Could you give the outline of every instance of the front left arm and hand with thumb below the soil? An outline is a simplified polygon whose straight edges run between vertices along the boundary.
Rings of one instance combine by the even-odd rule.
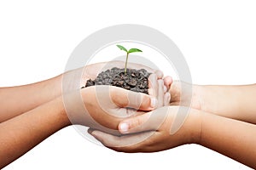
[[[109,86],[83,88],[66,95],[0,123],[0,169],[63,127],[80,124],[118,133],[119,121],[129,116],[126,106],[151,111],[156,105],[147,94]],[[71,110],[67,111],[67,105]]]

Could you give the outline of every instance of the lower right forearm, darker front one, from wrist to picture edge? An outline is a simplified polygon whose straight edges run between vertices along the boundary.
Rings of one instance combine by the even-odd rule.
[[[256,167],[256,126],[253,124],[202,113],[200,144]]]

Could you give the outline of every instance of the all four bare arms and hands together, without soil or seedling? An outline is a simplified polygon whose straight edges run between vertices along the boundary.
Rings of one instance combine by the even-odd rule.
[[[15,161],[61,128],[72,125],[72,122],[102,130],[90,133],[113,150],[152,152],[193,143],[218,151],[249,167],[256,167],[256,138],[252,135],[256,132],[255,84],[190,85],[195,89],[191,105],[194,109],[191,109],[186,105],[186,99],[183,98],[183,101],[181,98],[181,94],[187,95],[186,88],[182,92],[182,88],[179,88],[183,82],[172,83],[172,79],[166,77],[166,87],[171,86],[168,91],[172,94],[172,106],[162,107],[168,105],[170,100],[162,73],[130,63],[129,69],[145,69],[153,73],[148,77],[148,94],[109,85],[81,89],[87,80],[95,80],[102,71],[124,67],[121,61],[106,64],[87,65],[42,82],[0,88],[0,168]],[[66,91],[61,90],[62,77],[65,79],[62,82],[67,83]],[[135,84],[129,83],[131,86]],[[75,92],[79,95],[75,95]],[[67,97],[65,102],[63,96]],[[200,105],[196,105],[196,101]],[[67,111],[67,105],[72,105],[69,108],[71,112]],[[157,107],[160,108],[154,110]],[[170,134],[169,129],[177,116],[177,110],[181,114],[189,110],[189,116],[177,133]],[[159,120],[164,121],[156,126]],[[19,128],[14,130],[14,127]],[[119,129],[119,133],[116,129]],[[109,131],[118,136],[111,135]],[[148,133],[150,138],[140,140],[145,135],[148,137]],[[142,142],[125,145],[134,139]]]

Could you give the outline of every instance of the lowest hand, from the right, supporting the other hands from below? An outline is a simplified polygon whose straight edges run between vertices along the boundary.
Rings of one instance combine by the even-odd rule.
[[[171,127],[177,114],[189,111],[189,116],[177,133]],[[125,131],[121,128],[128,127]],[[123,136],[114,136],[97,130],[89,133],[112,150],[122,152],[154,152],[167,150],[181,144],[199,143],[201,134],[201,114],[186,107],[161,107],[140,116],[120,122],[119,131]]]

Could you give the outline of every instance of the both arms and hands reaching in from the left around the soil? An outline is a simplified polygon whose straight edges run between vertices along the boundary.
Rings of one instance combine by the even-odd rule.
[[[123,64],[119,61],[111,62],[108,67]],[[118,125],[125,117],[141,115],[143,111],[152,111],[159,105],[155,96],[161,96],[162,99],[158,98],[160,101],[170,100],[170,94],[164,90],[163,80],[159,79],[162,73],[143,65],[130,64],[131,68],[143,67],[154,73],[149,77],[150,95],[108,86],[79,88],[88,78],[95,78],[97,72],[101,71],[105,65],[105,63],[88,65],[44,82],[15,88],[1,88],[0,94],[3,94],[6,99],[0,100],[3,105],[0,110],[0,168],[15,161],[61,128],[79,124],[120,134],[117,130]],[[79,86],[73,83],[68,84],[68,93],[61,94],[61,78],[66,77],[66,81],[72,82],[73,77],[80,73],[82,73],[81,80],[79,77],[81,84]],[[37,94],[38,91],[42,96]],[[99,94],[101,98],[98,98]],[[55,97],[57,95],[59,97]],[[11,99],[13,96],[15,101]],[[15,104],[18,109],[14,107]],[[73,109],[71,112],[67,112],[67,105],[72,106],[69,107]],[[130,111],[126,107],[137,110]]]

